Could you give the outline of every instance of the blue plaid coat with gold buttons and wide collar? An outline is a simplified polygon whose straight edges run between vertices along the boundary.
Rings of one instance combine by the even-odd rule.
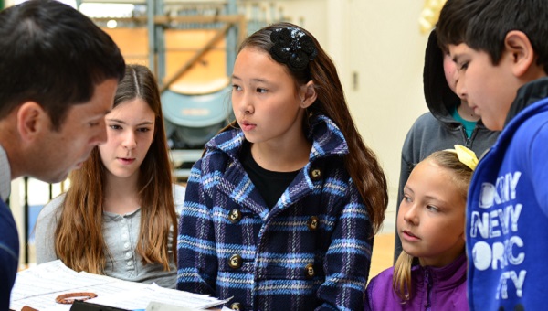
[[[372,224],[338,127],[317,117],[310,138],[309,163],[271,210],[238,160],[242,131],[207,143],[186,187],[178,289],[239,310],[363,310]]]

